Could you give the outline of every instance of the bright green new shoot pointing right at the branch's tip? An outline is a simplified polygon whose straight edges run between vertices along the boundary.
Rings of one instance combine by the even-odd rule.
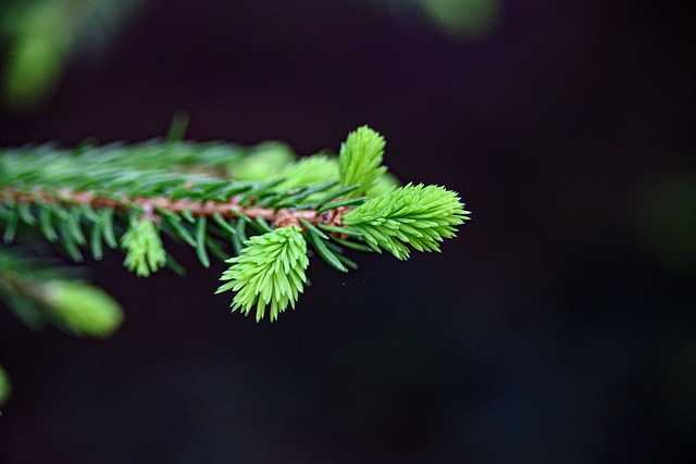
[[[359,231],[375,251],[409,258],[410,244],[419,251],[439,251],[439,242],[455,237],[455,226],[469,217],[457,192],[438,186],[411,184],[365,201],[344,214],[345,226]]]

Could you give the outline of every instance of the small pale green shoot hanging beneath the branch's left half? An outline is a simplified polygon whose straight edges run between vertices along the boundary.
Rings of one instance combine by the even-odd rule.
[[[166,264],[166,252],[157,227],[149,218],[135,220],[121,239],[126,251],[123,264],[140,277],[148,277]]]

